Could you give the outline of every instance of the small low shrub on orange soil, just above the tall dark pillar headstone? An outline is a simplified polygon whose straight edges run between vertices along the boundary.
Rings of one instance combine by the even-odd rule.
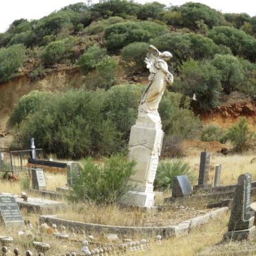
[[[209,125],[204,127],[201,134],[202,141],[219,141],[223,142],[224,130],[218,125]]]

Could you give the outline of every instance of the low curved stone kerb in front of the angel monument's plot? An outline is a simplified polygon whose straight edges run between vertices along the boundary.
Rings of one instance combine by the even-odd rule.
[[[63,220],[56,215],[41,215],[39,217],[39,222],[47,224],[56,224],[57,226],[63,225],[66,228],[76,228],[83,229],[87,231],[96,231],[104,233],[118,233],[118,234],[129,234],[129,233],[143,233],[147,235],[161,235],[164,238],[183,235],[189,232],[191,228],[200,226],[209,220],[218,217],[228,211],[228,207],[222,207],[206,213],[202,216],[193,217],[190,220],[181,222],[176,226],[156,226],[156,227],[136,227],[136,226],[110,226],[102,224],[92,224],[92,223],[83,223],[75,222],[72,220]]]

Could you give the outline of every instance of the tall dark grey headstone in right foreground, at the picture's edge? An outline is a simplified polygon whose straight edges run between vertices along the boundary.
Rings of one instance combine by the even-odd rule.
[[[224,239],[243,240],[255,233],[254,212],[250,209],[251,178],[249,173],[239,175],[235,197]]]

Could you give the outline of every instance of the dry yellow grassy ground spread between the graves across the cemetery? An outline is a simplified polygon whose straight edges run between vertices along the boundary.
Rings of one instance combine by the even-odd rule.
[[[222,164],[222,175],[220,179],[221,185],[236,184],[238,176],[246,172],[252,175],[252,180],[256,180],[256,161],[253,160],[254,158],[255,155],[221,156],[212,154],[209,184],[213,184],[214,167],[215,164],[219,163]],[[200,158],[198,156],[189,156],[182,160],[189,163],[191,166],[194,177],[192,183],[196,184]],[[65,186],[67,176],[64,174],[45,172],[45,182],[47,185],[45,190],[56,191],[56,188]],[[22,177],[17,182],[0,180],[1,192],[20,195],[22,191],[25,191],[23,186],[24,178]],[[167,198],[170,195],[171,191],[166,191],[163,195],[158,193],[156,195],[155,204],[163,204],[163,198]],[[254,198],[252,198],[251,202],[253,202],[253,199]],[[184,220],[189,220],[193,217],[204,215],[209,211],[212,211],[212,209],[206,209],[207,200],[202,199],[185,200],[182,203],[175,202],[174,204],[171,204],[168,211],[162,212],[142,211],[138,208],[127,210],[127,208],[122,208],[118,205],[97,206],[96,204],[76,204],[71,203],[69,200],[65,200],[65,198],[61,200],[64,200],[69,204],[68,209],[54,211],[51,215],[54,214],[61,219],[73,220],[76,222],[116,226],[168,226],[178,224]],[[74,232],[70,230],[67,231],[67,234],[70,235],[69,240],[57,239],[53,235],[55,232],[54,228],[49,226],[47,231],[45,231],[46,234],[44,231],[36,228],[36,226],[39,225],[39,217],[41,214],[28,213],[25,209],[21,209],[21,213],[24,220],[30,220],[33,226],[33,228],[25,228],[25,230],[27,230],[27,237],[19,235],[17,229],[6,229],[3,226],[0,228],[0,235],[8,235],[14,238],[12,248],[19,248],[21,255],[23,255],[25,250],[28,250],[28,248],[33,250],[33,240],[45,242],[51,245],[47,255],[60,255],[68,250],[81,250],[82,241],[87,239],[86,235],[81,233],[74,234]],[[214,246],[222,240],[224,233],[227,231],[229,216],[230,211],[219,217],[215,217],[206,224],[192,228],[187,234],[179,237],[163,239],[161,243],[155,241],[155,236],[151,236],[147,233],[136,233],[131,236],[127,235],[127,238],[131,238],[133,240],[140,241],[142,238],[146,238],[149,241],[147,250],[131,252],[131,255],[197,255],[202,250]],[[59,229],[60,226],[57,226],[57,228]],[[104,237],[100,232],[92,232],[92,235],[94,235],[94,237],[96,237],[96,241],[101,244],[109,243],[109,241],[106,240],[106,237]],[[245,248],[248,246],[249,243],[252,242],[239,242],[233,244],[235,244],[235,249],[239,250],[239,248]],[[234,248],[234,245],[232,245],[232,248]],[[226,250],[223,255],[228,255],[225,253]]]

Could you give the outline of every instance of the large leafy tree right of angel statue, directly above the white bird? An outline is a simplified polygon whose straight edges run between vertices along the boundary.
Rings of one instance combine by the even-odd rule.
[[[180,67],[181,91],[192,97],[196,95],[198,107],[202,110],[216,107],[222,89],[221,74],[211,61],[194,61],[190,59]]]

